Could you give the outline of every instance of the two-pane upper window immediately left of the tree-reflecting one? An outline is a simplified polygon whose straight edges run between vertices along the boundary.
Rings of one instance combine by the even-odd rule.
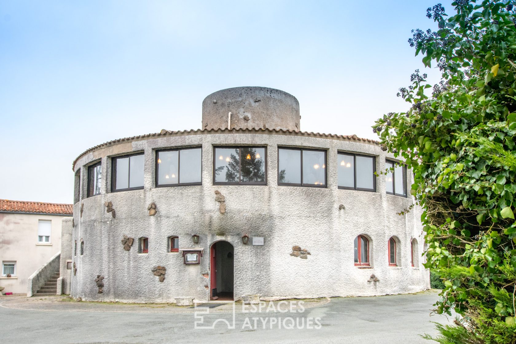
[[[202,183],[200,147],[156,152],[156,186],[199,185]]]

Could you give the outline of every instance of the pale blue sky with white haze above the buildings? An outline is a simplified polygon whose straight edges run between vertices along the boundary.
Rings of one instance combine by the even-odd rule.
[[[441,2],[451,13],[451,2]],[[424,70],[407,40],[434,1],[16,1],[0,4],[0,198],[72,203],[73,159],[197,129],[214,91],[297,97],[301,130],[376,138]]]

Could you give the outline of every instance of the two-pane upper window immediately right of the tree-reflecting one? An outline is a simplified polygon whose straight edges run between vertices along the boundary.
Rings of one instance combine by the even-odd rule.
[[[278,148],[278,185],[326,187],[326,151]]]

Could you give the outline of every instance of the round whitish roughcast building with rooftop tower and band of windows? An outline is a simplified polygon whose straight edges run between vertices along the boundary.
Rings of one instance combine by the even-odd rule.
[[[396,162],[372,140],[301,132],[299,103],[283,91],[215,92],[202,129],[119,139],[74,161],[71,296],[428,289],[421,211],[397,214],[414,202],[412,175]]]

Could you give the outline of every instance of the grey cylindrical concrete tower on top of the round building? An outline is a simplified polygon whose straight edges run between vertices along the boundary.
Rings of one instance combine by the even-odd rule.
[[[227,88],[208,95],[202,102],[202,129],[267,128],[298,132],[299,119],[296,97],[273,88]]]

